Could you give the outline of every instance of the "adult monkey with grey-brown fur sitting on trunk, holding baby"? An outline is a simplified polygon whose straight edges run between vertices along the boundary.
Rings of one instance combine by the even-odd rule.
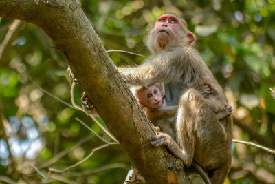
[[[198,163],[212,183],[223,183],[232,159],[232,119],[227,116],[219,121],[214,116],[227,102],[216,79],[192,48],[194,41],[184,19],[164,14],[148,35],[148,48],[153,55],[142,65],[118,71],[131,85],[163,82],[167,105],[179,103],[177,143],[168,134],[158,132],[152,145],[166,145],[185,165]],[[206,98],[196,90],[203,83],[211,89]]]

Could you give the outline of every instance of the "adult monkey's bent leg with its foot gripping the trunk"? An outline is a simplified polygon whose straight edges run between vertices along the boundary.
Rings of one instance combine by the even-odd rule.
[[[207,106],[207,112],[212,112],[210,105],[206,103],[206,100],[198,90],[190,89],[185,92],[181,96],[177,111],[177,143],[168,134],[158,132],[151,144],[155,147],[166,145],[175,156],[184,161],[184,165],[190,167],[193,162],[197,139],[196,124],[201,121],[199,113],[205,111],[201,107],[202,104]]]

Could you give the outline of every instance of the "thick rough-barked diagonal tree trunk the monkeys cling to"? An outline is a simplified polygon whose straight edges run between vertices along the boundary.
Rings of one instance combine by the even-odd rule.
[[[154,134],[151,123],[122,81],[78,1],[1,0],[0,16],[39,25],[55,41],[98,114],[147,183],[167,183],[168,170],[182,167],[175,158],[168,159],[170,154],[164,147],[150,145]],[[183,172],[178,172],[177,178],[178,183],[189,183]]]

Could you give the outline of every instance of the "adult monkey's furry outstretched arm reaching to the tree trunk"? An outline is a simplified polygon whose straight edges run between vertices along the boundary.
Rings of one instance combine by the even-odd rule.
[[[188,49],[190,48],[176,48],[152,56],[135,68],[118,68],[118,71],[129,85],[149,86],[178,81],[184,71],[189,70],[190,65],[186,63],[189,62],[186,58],[190,58]]]

